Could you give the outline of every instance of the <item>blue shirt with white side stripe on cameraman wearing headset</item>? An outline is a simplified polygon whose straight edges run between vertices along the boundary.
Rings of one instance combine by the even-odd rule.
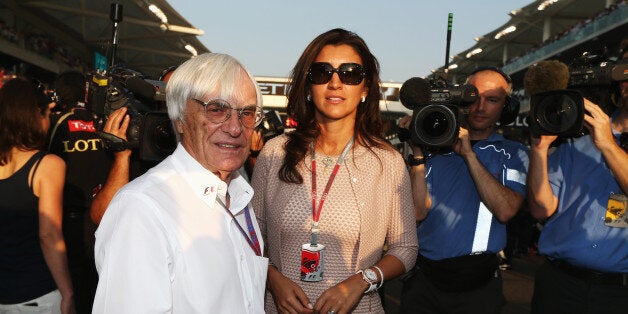
[[[528,149],[497,133],[473,145],[480,162],[499,182],[525,197]],[[481,202],[464,159],[455,153],[425,164],[432,207],[417,229],[419,252],[441,260],[472,253],[497,253],[506,246],[506,226]]]

